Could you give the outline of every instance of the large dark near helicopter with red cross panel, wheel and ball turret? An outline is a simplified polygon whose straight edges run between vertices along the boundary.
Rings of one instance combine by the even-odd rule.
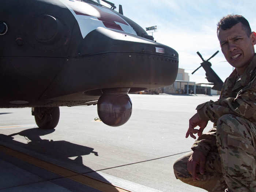
[[[128,121],[128,93],[172,84],[178,53],[101,0],[8,0],[0,6],[0,107],[31,107],[53,129],[59,106],[96,105],[110,126]],[[150,105],[150,103],[148,103]]]

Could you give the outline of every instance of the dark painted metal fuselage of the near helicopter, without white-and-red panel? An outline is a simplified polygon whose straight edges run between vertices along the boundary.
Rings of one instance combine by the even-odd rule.
[[[2,4],[0,21],[8,30],[0,35],[0,107],[95,104],[103,89],[123,87],[131,93],[172,84],[178,53],[149,40],[153,37],[142,27],[113,12],[138,34],[127,36],[139,41],[127,41],[126,33],[117,31],[123,39],[110,38],[99,29],[83,39],[75,17],[58,0]],[[155,47],[165,53],[156,53]]]

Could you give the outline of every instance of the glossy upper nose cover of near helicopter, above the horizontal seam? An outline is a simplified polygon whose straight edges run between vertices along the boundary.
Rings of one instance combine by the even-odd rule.
[[[178,53],[168,46],[137,35],[103,27],[91,31],[79,46],[80,56],[113,52],[159,54],[178,59]]]

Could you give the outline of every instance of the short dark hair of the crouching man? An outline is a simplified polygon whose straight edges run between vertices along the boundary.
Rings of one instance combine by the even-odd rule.
[[[234,25],[236,25],[239,22],[242,23],[242,26],[243,26],[245,32],[249,36],[252,33],[252,30],[251,30],[248,20],[246,20],[242,15],[231,14],[231,15],[227,15],[227,16],[224,16],[223,18],[221,18],[221,20],[219,20],[219,22],[217,24],[217,32],[218,32],[219,28],[221,28],[222,30],[230,29],[231,27],[233,27]]]

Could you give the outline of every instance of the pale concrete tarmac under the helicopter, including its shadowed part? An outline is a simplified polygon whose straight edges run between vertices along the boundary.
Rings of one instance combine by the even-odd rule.
[[[132,116],[120,127],[95,121],[97,106],[60,107],[53,130],[38,129],[30,108],[0,109],[0,192],[203,192],[176,180],[173,163],[191,150],[196,106],[218,96],[129,96]]]

